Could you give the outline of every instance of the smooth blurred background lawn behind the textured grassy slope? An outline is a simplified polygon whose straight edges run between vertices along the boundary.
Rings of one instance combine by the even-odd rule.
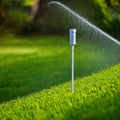
[[[41,91],[71,79],[68,38],[34,36],[0,38],[0,102]],[[75,78],[117,63],[116,56],[96,45],[77,42]],[[114,59],[116,58],[116,59]]]

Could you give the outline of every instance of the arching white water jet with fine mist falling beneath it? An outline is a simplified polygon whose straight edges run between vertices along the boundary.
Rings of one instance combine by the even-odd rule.
[[[61,19],[66,23],[63,25],[65,33],[69,28],[77,29],[75,77],[81,77],[82,72],[86,76],[120,63],[120,42],[117,39],[60,2],[49,2],[49,7],[52,8],[52,12],[57,13],[58,10],[56,16],[50,14],[53,15],[53,19],[62,15]],[[61,25],[59,24],[60,19],[57,22],[54,24]],[[71,39],[74,39],[72,37],[70,36]],[[74,46],[75,43],[70,40],[71,46]]]

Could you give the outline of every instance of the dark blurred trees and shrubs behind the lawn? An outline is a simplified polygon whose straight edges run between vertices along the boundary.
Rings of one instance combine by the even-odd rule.
[[[67,20],[51,0],[38,0],[38,10],[31,20],[37,0],[0,0],[0,34],[63,34]],[[58,0],[115,38],[120,38],[120,0]]]

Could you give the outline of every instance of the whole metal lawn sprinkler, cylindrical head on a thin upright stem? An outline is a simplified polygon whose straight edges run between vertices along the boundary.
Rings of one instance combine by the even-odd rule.
[[[71,45],[71,57],[72,57],[72,93],[74,92],[74,45],[76,45],[76,29],[70,29],[70,45]]]

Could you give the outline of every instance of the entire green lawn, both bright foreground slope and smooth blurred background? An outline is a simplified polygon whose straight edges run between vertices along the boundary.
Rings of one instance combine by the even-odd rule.
[[[120,64],[93,74],[119,62],[107,49],[77,42],[72,94],[68,38],[0,38],[0,119],[119,120]]]

